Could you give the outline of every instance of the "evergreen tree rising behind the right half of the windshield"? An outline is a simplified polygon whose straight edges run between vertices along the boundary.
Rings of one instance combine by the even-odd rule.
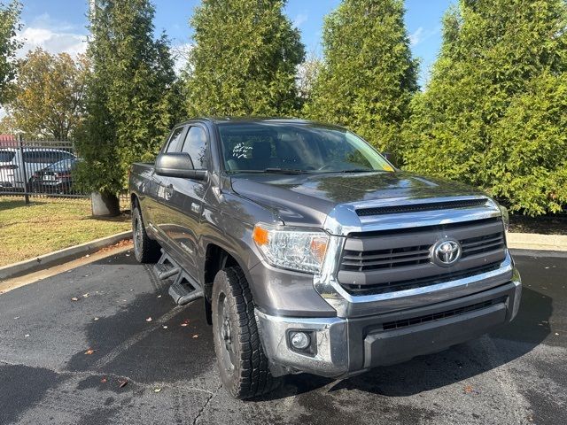
[[[308,117],[351,128],[379,150],[400,151],[400,125],[418,89],[403,17],[401,0],[344,0],[330,13]]]

